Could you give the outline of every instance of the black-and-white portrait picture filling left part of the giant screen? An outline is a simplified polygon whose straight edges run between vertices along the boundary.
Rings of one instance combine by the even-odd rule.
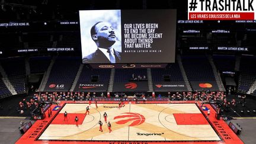
[[[111,14],[106,14],[110,11]],[[89,24],[87,23],[87,32],[83,33],[81,27],[82,41],[82,62],[83,63],[120,63],[121,62],[121,28],[119,10],[100,10],[95,11],[101,15],[112,15],[111,17],[103,17],[102,21],[94,21],[90,23],[91,27],[88,31]],[[95,14],[94,12],[94,14]],[[98,14],[98,15],[100,15]],[[80,15],[81,19],[81,15]],[[100,17],[96,18],[101,20]],[[82,23],[80,24],[82,25]],[[83,39],[83,34],[87,36]],[[90,37],[88,37],[88,35]],[[83,40],[94,42],[84,43]]]

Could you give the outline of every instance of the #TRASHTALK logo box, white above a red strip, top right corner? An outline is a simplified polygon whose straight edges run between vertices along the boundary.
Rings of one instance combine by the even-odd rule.
[[[188,0],[188,20],[256,20],[255,0]]]

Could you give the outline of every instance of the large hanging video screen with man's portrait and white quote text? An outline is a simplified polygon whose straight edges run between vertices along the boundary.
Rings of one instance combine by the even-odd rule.
[[[83,63],[175,62],[175,9],[79,11]]]

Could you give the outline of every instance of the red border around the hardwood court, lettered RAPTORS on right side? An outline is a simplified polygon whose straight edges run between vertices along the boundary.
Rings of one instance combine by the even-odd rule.
[[[60,103],[61,106],[63,106],[65,103],[73,103],[73,101],[62,101]],[[88,103],[87,101],[79,101],[78,103]],[[101,103],[101,101],[98,101],[98,103]],[[117,101],[104,101],[103,103],[117,103]],[[147,101],[147,103],[167,103],[167,101]],[[194,101],[172,101],[172,103],[194,103]],[[52,105],[51,107],[54,108],[56,105]],[[44,120],[37,120],[32,127],[23,135],[21,136],[20,139],[17,140],[16,144],[24,144],[24,143],[35,143],[35,144],[45,144],[45,143],[50,143],[50,144],[61,144],[61,143],[71,143],[71,144],[80,144],[80,143],[196,143],[196,144],[202,144],[202,143],[207,143],[207,144],[220,144],[220,143],[235,143],[235,144],[240,144],[243,143],[239,137],[233,133],[233,131],[229,128],[228,124],[224,120],[217,120],[215,119],[215,114],[216,111],[213,110],[213,108],[210,106],[210,104],[205,104],[208,108],[210,108],[210,116],[209,116],[209,122],[211,123],[213,129],[216,130],[217,134],[222,137],[222,140],[212,142],[212,141],[177,141],[177,142],[148,142],[148,141],[79,141],[79,140],[68,140],[68,141],[56,141],[56,140],[36,140],[39,135],[44,131],[44,129],[47,127],[47,124],[49,124],[53,117],[55,117],[56,114],[59,113],[58,111],[53,111],[52,117],[48,118],[46,117]],[[207,116],[207,111],[203,111],[204,116]]]

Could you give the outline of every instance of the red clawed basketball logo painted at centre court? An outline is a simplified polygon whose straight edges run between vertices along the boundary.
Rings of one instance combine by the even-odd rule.
[[[128,122],[132,122],[129,126],[139,126],[140,124],[145,122],[145,117],[142,116],[142,114],[138,113],[121,113],[123,115],[114,117],[114,120],[116,119],[123,119],[116,121],[117,124],[125,124]],[[128,119],[124,119],[128,118]]]

